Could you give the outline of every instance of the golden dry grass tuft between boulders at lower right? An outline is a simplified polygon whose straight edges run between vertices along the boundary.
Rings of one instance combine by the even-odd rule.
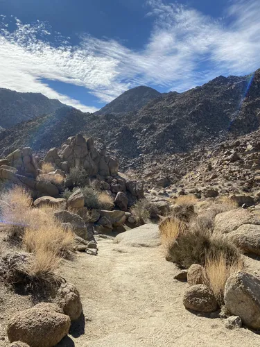
[[[207,279],[205,284],[208,285],[214,293],[219,305],[223,305],[223,296],[227,278],[232,273],[243,270],[243,260],[227,260],[225,253],[220,253],[216,257],[206,257],[205,272]]]

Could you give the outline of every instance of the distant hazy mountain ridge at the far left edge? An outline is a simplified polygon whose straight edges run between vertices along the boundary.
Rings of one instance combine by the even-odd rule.
[[[48,115],[63,106],[60,101],[48,99],[40,93],[19,93],[0,88],[0,126],[10,128],[21,121]]]

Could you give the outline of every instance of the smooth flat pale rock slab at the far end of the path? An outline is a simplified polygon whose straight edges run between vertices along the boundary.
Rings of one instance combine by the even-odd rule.
[[[114,238],[114,243],[132,247],[157,247],[161,244],[159,228],[157,224],[145,224],[121,232]]]

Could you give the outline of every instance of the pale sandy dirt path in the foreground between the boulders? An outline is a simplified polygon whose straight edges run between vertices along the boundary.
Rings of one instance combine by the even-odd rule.
[[[62,347],[258,346],[250,330],[227,330],[220,319],[188,312],[186,283],[173,276],[161,247],[135,248],[98,239],[98,256],[80,254],[63,276],[80,290],[85,319]],[[85,326],[84,326],[85,325]]]

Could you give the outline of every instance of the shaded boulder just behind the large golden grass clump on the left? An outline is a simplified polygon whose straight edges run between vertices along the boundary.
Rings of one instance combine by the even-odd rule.
[[[87,226],[83,218],[78,214],[66,210],[60,210],[54,212],[54,216],[60,221],[60,223],[71,223],[73,232],[83,239],[87,239]]]

